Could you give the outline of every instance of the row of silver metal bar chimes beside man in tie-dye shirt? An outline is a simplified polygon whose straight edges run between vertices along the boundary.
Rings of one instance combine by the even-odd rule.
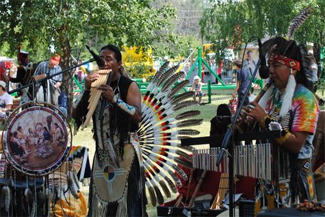
[[[221,148],[196,149],[193,153],[193,167],[211,170],[220,173],[229,173],[229,158],[224,156],[219,166],[216,166],[217,157]],[[259,179],[272,179],[271,145],[257,144],[235,146],[234,174]]]

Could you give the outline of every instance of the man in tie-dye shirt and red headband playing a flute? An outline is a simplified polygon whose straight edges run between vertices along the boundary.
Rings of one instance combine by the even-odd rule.
[[[272,86],[259,103],[244,107],[248,121],[256,120],[266,131],[280,129],[276,139],[280,152],[288,151],[291,199],[314,200],[311,156],[319,106],[311,92],[307,51],[294,40],[275,37],[263,43],[268,56]],[[284,165],[279,165],[284,166]]]

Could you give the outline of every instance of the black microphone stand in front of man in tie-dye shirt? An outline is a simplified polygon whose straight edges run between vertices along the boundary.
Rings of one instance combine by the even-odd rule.
[[[252,73],[252,77],[250,78],[250,83],[248,88],[246,89],[246,92],[244,94],[243,100],[240,102],[239,107],[237,107],[237,111],[235,113],[235,116],[233,118],[233,121],[231,125],[229,125],[225,135],[224,139],[222,140],[222,146],[221,146],[221,151],[217,157],[217,162],[216,166],[219,166],[220,162],[222,161],[222,158],[224,157],[224,152],[229,154],[229,216],[233,217],[234,216],[234,209],[235,206],[233,205],[233,195],[234,195],[234,190],[233,190],[233,149],[234,149],[234,144],[233,144],[233,136],[234,136],[234,125],[237,121],[237,118],[239,117],[240,110],[242,110],[242,107],[244,105],[244,101],[246,97],[248,97],[248,92],[250,91],[250,87],[252,86],[252,81],[254,80],[257,71],[259,70],[259,66],[261,65],[261,59],[256,64],[255,71]],[[232,143],[232,144],[231,144]],[[229,151],[226,151],[226,149],[229,148]]]

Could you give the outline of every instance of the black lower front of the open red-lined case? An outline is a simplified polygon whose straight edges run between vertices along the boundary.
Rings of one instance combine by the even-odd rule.
[[[157,216],[218,216],[225,209],[200,209],[197,207],[157,207]]]

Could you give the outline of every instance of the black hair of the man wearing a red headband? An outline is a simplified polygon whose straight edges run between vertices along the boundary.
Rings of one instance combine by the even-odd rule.
[[[300,71],[297,73],[297,82],[312,90],[312,74],[307,56],[307,49],[303,44],[297,44],[295,40],[276,36],[263,43],[263,51],[266,55],[283,55],[300,62]]]

